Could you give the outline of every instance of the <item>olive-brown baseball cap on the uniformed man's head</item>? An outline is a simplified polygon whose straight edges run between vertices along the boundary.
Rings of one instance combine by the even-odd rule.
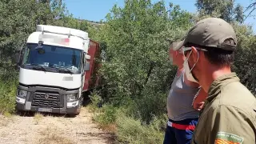
[[[226,39],[233,39],[234,45],[223,43]],[[222,50],[235,50],[237,46],[233,27],[221,18],[205,18],[197,22],[186,34],[186,38],[175,47],[175,50],[188,42]]]

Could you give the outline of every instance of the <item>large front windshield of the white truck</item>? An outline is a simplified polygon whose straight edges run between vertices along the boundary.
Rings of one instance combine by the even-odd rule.
[[[22,66],[36,70],[66,72],[78,74],[81,72],[82,50],[38,44],[27,44],[23,55]]]

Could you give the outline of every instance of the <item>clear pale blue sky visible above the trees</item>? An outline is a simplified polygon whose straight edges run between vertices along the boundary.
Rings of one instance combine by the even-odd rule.
[[[82,18],[90,21],[105,20],[106,14],[108,14],[114,4],[118,6],[124,6],[123,0],[64,0],[66,8],[75,18]],[[158,0],[152,0],[151,2],[158,2]],[[179,5],[182,10],[189,12],[196,12],[197,9],[194,6],[195,0],[165,0],[166,4],[173,2],[175,5]],[[236,3],[242,4],[246,7],[250,5],[251,0],[235,0]],[[254,12],[256,14],[256,11]],[[254,34],[256,32],[256,21],[253,17],[247,18],[246,24],[253,25]]]

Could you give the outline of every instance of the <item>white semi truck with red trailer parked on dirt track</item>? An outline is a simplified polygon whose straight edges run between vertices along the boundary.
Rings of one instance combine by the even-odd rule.
[[[38,25],[18,58],[16,109],[79,114],[85,93],[98,85],[99,55],[85,31]]]

